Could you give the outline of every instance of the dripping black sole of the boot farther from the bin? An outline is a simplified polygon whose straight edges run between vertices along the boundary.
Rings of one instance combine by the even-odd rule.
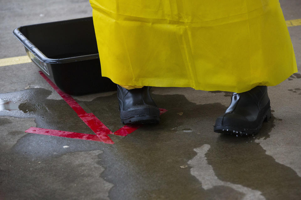
[[[271,118],[271,106],[267,109],[264,115],[262,115],[261,121],[258,124],[258,126],[254,129],[246,129],[246,128],[237,128],[237,127],[232,127],[232,126],[214,126],[214,132],[216,133],[222,133],[222,134],[240,134],[242,135],[254,135],[257,134],[261,127],[263,122],[268,122]]]

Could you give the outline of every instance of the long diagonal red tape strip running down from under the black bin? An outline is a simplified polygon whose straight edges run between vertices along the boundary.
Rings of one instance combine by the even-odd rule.
[[[114,144],[109,134],[113,132],[108,129],[93,113],[87,113],[69,94],[60,90],[43,72],[40,75],[51,85],[53,89],[68,103],[68,105],[77,113],[77,116],[87,124],[89,128],[100,138],[104,143]]]

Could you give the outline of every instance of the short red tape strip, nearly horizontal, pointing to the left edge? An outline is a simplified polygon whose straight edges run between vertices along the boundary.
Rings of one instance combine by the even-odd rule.
[[[41,135],[58,136],[58,137],[64,137],[64,138],[75,138],[75,139],[81,139],[81,140],[92,140],[92,141],[103,142],[103,140],[98,138],[97,135],[85,134],[85,133],[58,131],[58,130],[52,130],[52,129],[46,129],[46,128],[35,128],[35,127],[31,127],[28,130],[26,130],[25,132],[26,133],[36,133],[36,134],[41,134]]]

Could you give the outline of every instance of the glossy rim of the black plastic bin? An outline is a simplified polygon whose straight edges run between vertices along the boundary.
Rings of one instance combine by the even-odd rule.
[[[92,17],[84,17],[84,18],[78,18],[78,19],[72,19],[72,20],[62,20],[58,22],[65,22],[65,21],[73,21],[73,20],[88,20]],[[46,23],[40,23],[40,24],[51,24],[54,22],[46,22]],[[25,48],[28,49],[29,52],[31,52],[36,58],[38,58],[43,63],[51,63],[51,64],[60,64],[60,63],[71,63],[71,62],[77,62],[77,61],[84,61],[84,60],[91,60],[91,59],[99,59],[99,54],[90,54],[90,55],[84,55],[84,56],[77,56],[77,57],[70,57],[70,58],[48,58],[45,56],[37,47],[34,46],[33,43],[29,41],[28,38],[26,38],[21,32],[20,28],[27,27],[27,26],[35,26],[40,24],[32,24],[32,25],[26,25],[26,26],[20,26],[13,30],[13,35],[17,37],[17,39],[24,45]]]

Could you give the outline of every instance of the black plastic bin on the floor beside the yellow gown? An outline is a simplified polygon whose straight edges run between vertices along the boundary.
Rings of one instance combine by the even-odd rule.
[[[101,76],[92,17],[18,27],[27,55],[62,91],[83,95],[116,90]]]

